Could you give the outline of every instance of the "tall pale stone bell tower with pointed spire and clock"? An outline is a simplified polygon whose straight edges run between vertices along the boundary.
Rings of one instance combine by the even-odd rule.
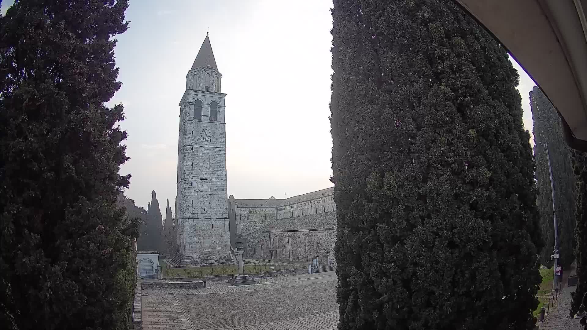
[[[206,34],[179,104],[176,224],[183,264],[231,260],[221,79]]]

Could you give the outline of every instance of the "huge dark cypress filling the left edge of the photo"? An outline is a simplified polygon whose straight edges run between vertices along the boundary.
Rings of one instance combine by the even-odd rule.
[[[1,329],[129,326],[127,134],[104,105],[127,6],[16,0],[0,17]]]

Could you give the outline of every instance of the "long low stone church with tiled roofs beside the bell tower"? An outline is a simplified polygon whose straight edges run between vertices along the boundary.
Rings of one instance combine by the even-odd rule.
[[[245,257],[333,264],[336,240],[334,189],[282,200],[228,198],[231,244],[241,243]]]

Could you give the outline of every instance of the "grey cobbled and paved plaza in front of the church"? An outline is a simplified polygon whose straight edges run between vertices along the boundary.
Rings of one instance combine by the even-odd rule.
[[[338,324],[334,271],[261,278],[203,289],[143,289],[145,330],[332,330]]]

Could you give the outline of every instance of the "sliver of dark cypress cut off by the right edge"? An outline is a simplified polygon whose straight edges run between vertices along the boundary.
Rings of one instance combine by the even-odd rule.
[[[572,151],[573,170],[576,177],[576,201],[575,201],[575,240],[577,277],[579,283],[572,292],[572,304],[570,315],[579,310],[583,295],[587,292],[587,153]],[[584,327],[587,329],[587,325]]]

